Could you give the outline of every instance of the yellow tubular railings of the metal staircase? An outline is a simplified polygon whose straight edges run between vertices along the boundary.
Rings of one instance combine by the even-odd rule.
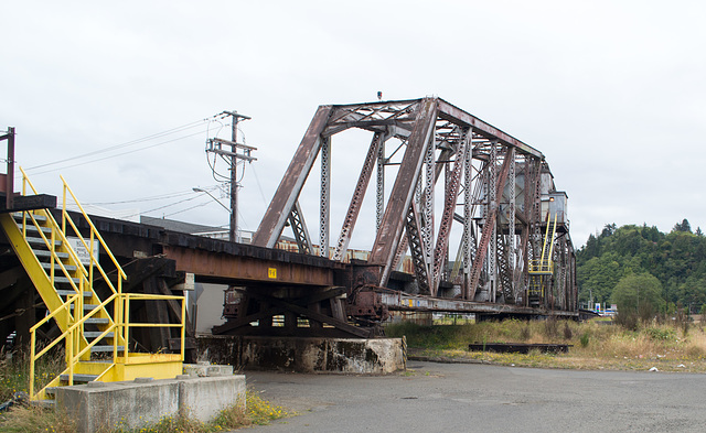
[[[22,172],[22,194],[26,195],[28,188],[31,190],[33,194],[39,194],[34,185],[30,182],[26,176],[26,173],[20,167]],[[122,364],[130,364],[129,361],[129,333],[130,328],[135,327],[180,327],[181,328],[181,350],[180,350],[180,359],[183,361],[184,359],[184,339],[185,339],[185,316],[186,316],[186,304],[184,302],[184,296],[176,295],[148,295],[141,293],[122,293],[122,280],[127,279],[127,275],[119,262],[108,248],[107,243],[98,232],[97,228],[86,214],[84,207],[81,205],[78,199],[76,198],[74,192],[68,187],[64,177],[61,177],[63,182],[63,197],[62,197],[62,224],[61,226],[54,218],[51,212],[42,209],[35,210],[38,215],[41,215],[46,218],[46,226],[51,228],[50,236],[46,236],[42,230],[42,225],[35,218],[35,215],[30,212],[23,213],[22,218],[22,237],[26,239],[26,226],[28,224],[33,224],[38,228],[39,236],[42,238],[46,247],[50,251],[50,267],[49,274],[50,281],[52,285],[55,288],[55,264],[58,264],[62,273],[67,278],[68,283],[74,289],[76,294],[72,294],[63,304],[58,307],[54,308],[51,314],[41,320],[38,324],[32,326],[30,329],[30,338],[31,338],[31,358],[30,358],[30,397],[31,399],[35,399],[38,394],[34,394],[34,370],[35,370],[35,361],[46,354],[50,349],[55,347],[62,340],[65,342],[65,357],[67,368],[63,374],[68,375],[68,385],[73,385],[74,379],[74,370],[76,365],[83,359],[90,359],[90,349],[96,344],[98,344],[103,338],[109,335],[113,332],[113,365],[117,364],[120,359]],[[66,209],[67,198],[71,197],[75,206],[79,209],[79,214],[85,218],[88,228],[89,235],[88,239],[86,239],[78,227],[71,218]],[[28,218],[29,217],[29,218]],[[81,243],[88,251],[88,269],[81,261],[77,252],[74,250],[72,245],[67,239],[67,228],[71,227],[74,235],[81,240]],[[57,241],[62,242],[61,251],[57,251],[56,243]],[[108,278],[108,273],[100,266],[98,261],[98,257],[94,255],[94,248],[98,245],[103,248],[103,251],[110,258],[113,266],[117,271],[117,284],[114,283]],[[69,256],[69,263],[76,266],[75,275],[66,269],[62,260],[60,259],[57,252],[66,252]],[[116,272],[111,271],[111,272]],[[105,301],[100,302],[88,313],[84,312],[84,294],[85,291],[89,290],[92,292],[92,297],[97,301],[100,301],[95,293],[93,286],[94,274],[98,274],[98,279],[103,280],[106,285],[110,289],[111,295],[108,296]],[[78,279],[78,284],[74,282],[74,278]],[[161,323],[130,323],[130,301],[181,301],[181,321],[179,324],[161,324]],[[113,317],[108,313],[108,305],[113,303]],[[62,314],[63,318],[60,323],[64,328],[62,335],[46,345],[42,350],[36,353],[36,329],[39,329],[43,324],[47,323],[50,320],[58,321],[60,317],[57,315]],[[88,342],[84,336],[84,325],[86,322],[96,316],[100,315],[104,318],[108,320],[108,323],[103,328],[101,334]],[[121,350],[118,350],[118,347],[122,346]],[[122,356],[119,356],[118,353],[121,351]],[[40,391],[41,393],[41,391]]]

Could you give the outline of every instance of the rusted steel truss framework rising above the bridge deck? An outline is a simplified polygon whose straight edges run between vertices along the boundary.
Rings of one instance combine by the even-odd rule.
[[[375,216],[365,219],[364,228],[375,230],[375,240],[368,248],[357,247],[370,249],[366,286],[392,286],[408,251],[414,281],[404,292],[528,307],[528,263],[541,255],[545,202],[556,191],[548,165],[538,150],[436,97],[319,107],[253,242],[272,248],[290,215],[303,224],[296,204],[319,159],[319,251],[328,257],[329,201],[332,188],[341,191],[331,184],[334,136],[351,128],[373,137],[363,145],[365,158],[332,259],[345,260],[376,170]],[[445,181],[438,183],[441,176]],[[435,195],[443,199],[435,201]],[[443,203],[438,216],[436,202]],[[545,296],[533,306],[575,312],[574,250],[568,221],[561,224],[564,235],[550,240],[557,271],[543,279]],[[295,237],[300,252],[313,253],[301,236]],[[458,253],[450,257],[449,251]]]

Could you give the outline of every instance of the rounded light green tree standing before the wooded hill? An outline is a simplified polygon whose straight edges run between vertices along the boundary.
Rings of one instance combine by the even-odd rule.
[[[662,283],[646,272],[630,273],[616,284],[612,300],[618,304],[618,314],[634,314],[646,320],[654,316],[663,304]]]

